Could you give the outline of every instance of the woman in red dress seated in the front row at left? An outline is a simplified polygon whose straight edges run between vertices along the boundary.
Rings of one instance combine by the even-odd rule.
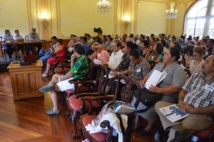
[[[62,62],[65,59],[65,46],[63,45],[62,39],[57,39],[57,48],[54,50],[56,56],[51,57],[47,60],[46,70],[42,74],[42,77],[47,77],[51,65],[56,64],[57,62]]]

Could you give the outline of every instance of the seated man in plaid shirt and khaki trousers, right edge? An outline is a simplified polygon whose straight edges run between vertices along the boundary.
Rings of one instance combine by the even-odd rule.
[[[214,114],[214,56],[209,56],[202,65],[202,72],[193,74],[179,93],[178,106],[189,115],[178,122],[171,122],[159,108],[171,105],[158,102],[155,105],[164,130],[169,130],[167,142],[180,142],[192,133],[208,128]]]

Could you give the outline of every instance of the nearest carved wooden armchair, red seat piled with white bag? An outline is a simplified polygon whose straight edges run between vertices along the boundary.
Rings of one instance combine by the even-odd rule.
[[[120,95],[121,98],[124,102],[131,102],[133,99],[133,90],[137,89],[138,93],[139,93],[139,98],[141,96],[141,88],[138,82],[134,81],[132,78],[129,78],[127,76],[124,75],[119,75],[118,76],[118,83],[117,83],[117,88],[119,85],[119,82],[121,80],[125,81],[125,86],[121,89],[120,91]],[[115,96],[103,96],[103,97],[94,97],[94,98],[89,98],[89,97],[82,97],[82,100],[87,100],[89,102],[95,101],[95,100],[108,100],[108,99],[113,99],[113,98],[117,98],[117,94],[118,94],[118,89],[116,89],[115,91]],[[137,108],[139,103],[139,99],[136,100],[136,102],[134,102],[134,107]],[[91,104],[91,103],[90,103]],[[92,106],[92,105],[91,105]],[[93,108],[93,107],[92,107]],[[109,141],[118,141],[117,138],[112,136],[112,128],[109,126],[108,122],[101,122],[101,124],[103,124],[103,127],[107,127],[108,128],[108,133],[94,133],[94,134],[90,134],[88,131],[86,131],[85,126],[87,126],[89,123],[91,123],[91,121],[93,119],[95,119],[97,117],[97,115],[91,115],[93,112],[92,108],[89,109],[88,115],[83,117],[81,120],[81,134],[82,134],[82,138],[83,139],[89,139],[90,142],[109,142]],[[134,125],[135,125],[135,117],[136,117],[136,112],[131,113],[128,115],[128,128],[125,131],[125,139],[124,142],[130,142],[131,141],[131,135],[133,133],[134,130]],[[106,125],[105,125],[106,124]]]

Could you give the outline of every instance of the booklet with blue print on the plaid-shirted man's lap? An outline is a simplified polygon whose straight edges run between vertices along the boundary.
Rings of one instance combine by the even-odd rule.
[[[181,120],[185,117],[187,117],[189,114],[186,112],[183,112],[177,105],[170,105],[167,107],[159,108],[161,113],[169,119],[171,122],[176,122],[178,120]]]

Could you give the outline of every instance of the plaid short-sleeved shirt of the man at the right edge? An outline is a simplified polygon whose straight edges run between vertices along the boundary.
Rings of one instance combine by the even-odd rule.
[[[214,106],[214,78],[206,81],[202,73],[193,74],[183,89],[187,92],[184,102],[194,108]]]

